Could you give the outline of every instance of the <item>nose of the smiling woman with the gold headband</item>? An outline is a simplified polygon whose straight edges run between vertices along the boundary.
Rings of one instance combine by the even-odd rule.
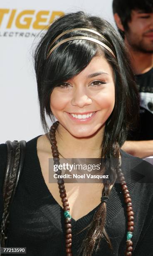
[[[71,103],[73,106],[83,108],[85,105],[90,105],[92,100],[85,88],[79,88],[74,91]]]

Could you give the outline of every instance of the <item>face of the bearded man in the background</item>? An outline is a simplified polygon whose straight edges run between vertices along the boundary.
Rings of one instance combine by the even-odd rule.
[[[153,53],[153,13],[132,10],[125,41],[135,51]]]

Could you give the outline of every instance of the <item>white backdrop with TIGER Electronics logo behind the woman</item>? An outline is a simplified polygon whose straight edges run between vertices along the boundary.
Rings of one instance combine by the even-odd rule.
[[[44,27],[64,13],[79,10],[114,24],[111,5],[112,0],[1,1],[0,143],[28,141],[44,133],[32,59]]]

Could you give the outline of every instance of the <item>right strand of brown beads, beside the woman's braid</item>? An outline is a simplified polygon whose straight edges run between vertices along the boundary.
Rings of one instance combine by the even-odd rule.
[[[121,170],[121,164],[118,164],[116,168],[116,173],[118,176],[118,180],[121,184],[121,188],[123,191],[123,196],[124,196],[124,201],[126,203],[126,212],[128,216],[128,233],[127,233],[127,241],[126,241],[126,256],[131,256],[132,251],[133,251],[133,242],[131,241],[132,238],[132,232],[134,230],[134,212],[133,212],[133,207],[132,207],[132,202],[131,202],[131,196],[124,178],[124,174]]]

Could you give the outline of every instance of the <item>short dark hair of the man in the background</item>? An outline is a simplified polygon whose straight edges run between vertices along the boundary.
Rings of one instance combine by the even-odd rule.
[[[113,13],[118,13],[125,30],[128,30],[128,22],[131,20],[132,10],[142,10],[144,13],[152,13],[153,0],[113,0]]]

